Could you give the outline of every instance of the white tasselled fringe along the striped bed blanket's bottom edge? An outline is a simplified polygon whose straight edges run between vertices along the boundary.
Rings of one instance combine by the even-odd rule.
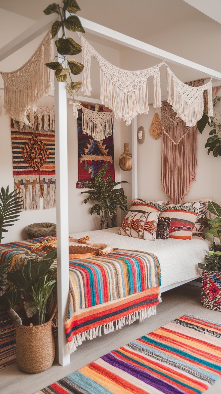
[[[161,299],[161,294],[159,294],[159,302]],[[132,324],[136,320],[139,322],[143,322],[144,319],[149,318],[150,316],[156,315],[156,305],[148,308],[141,309],[134,313],[131,313],[123,318],[113,320],[113,322],[106,323],[104,325],[100,325],[91,330],[84,331],[83,333],[76,334],[71,342],[68,342],[65,346],[67,354],[73,353],[78,346],[82,344],[86,339],[91,340],[97,338],[97,336],[102,336],[102,327],[104,334],[109,334],[114,332],[115,330],[121,330],[124,325]]]

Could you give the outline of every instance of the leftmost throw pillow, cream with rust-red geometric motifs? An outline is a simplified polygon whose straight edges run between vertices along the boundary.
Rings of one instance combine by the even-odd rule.
[[[160,204],[141,199],[132,200],[132,205],[119,228],[119,234],[155,241],[161,207]]]

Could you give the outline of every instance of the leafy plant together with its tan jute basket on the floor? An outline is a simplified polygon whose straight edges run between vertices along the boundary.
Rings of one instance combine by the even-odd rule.
[[[53,302],[48,301],[56,284],[56,267],[52,267],[55,258],[56,250],[44,258],[28,253],[22,255],[18,268],[14,259],[14,265],[6,261],[0,266],[0,286],[4,290],[0,308],[9,309],[15,322],[17,365],[24,372],[42,372],[54,361],[53,316],[48,313]]]

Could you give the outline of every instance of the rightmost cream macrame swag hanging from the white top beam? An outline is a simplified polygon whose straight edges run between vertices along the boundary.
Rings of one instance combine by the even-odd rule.
[[[167,102],[173,106],[176,117],[186,126],[193,127],[202,118],[204,111],[203,92],[208,91],[208,117],[214,116],[212,103],[212,81],[202,86],[188,86],[176,78],[167,66]]]

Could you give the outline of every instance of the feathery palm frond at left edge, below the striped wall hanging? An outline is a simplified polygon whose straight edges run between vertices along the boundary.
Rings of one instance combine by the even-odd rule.
[[[2,237],[2,232],[8,232],[5,227],[13,226],[15,221],[19,220],[17,217],[23,208],[23,200],[20,192],[13,190],[9,193],[9,186],[6,190],[2,187],[0,193],[0,243],[5,237]]]

